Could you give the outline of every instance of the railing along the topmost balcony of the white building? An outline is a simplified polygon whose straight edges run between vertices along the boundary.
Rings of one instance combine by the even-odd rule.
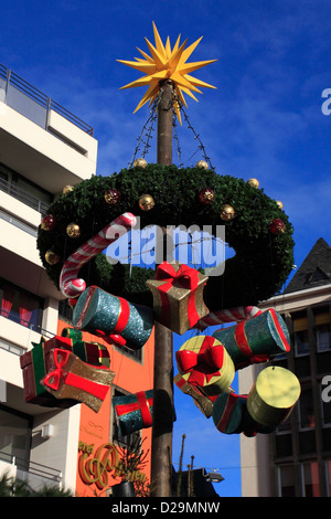
[[[40,92],[26,81],[14,74],[0,63],[0,89],[4,93],[4,103],[28,117],[33,123],[47,130],[49,114],[51,110],[62,115],[65,119],[93,136],[92,126],[63,108],[51,97]]]

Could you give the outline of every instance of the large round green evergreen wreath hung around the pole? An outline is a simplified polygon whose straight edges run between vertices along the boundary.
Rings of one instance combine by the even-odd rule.
[[[201,190],[214,192],[211,203],[199,199]],[[120,198],[115,204],[105,200],[105,193],[116,189]],[[142,194],[150,194],[154,206],[143,211],[139,206]],[[224,204],[235,211],[232,220],[224,221]],[[263,189],[242,179],[220,176],[211,169],[177,168],[175,166],[147,165],[122,169],[109,177],[95,176],[73,190],[61,194],[49,208],[54,227],[39,227],[38,248],[49,277],[58,288],[62,266],[66,258],[88,239],[97,234],[116,216],[131,212],[140,218],[140,227],[157,224],[225,225],[225,240],[235,256],[227,260],[222,276],[210,277],[204,300],[209,309],[218,310],[236,306],[257,305],[277,294],[293,265],[292,225],[279,204],[268,198]],[[285,231],[270,232],[270,222],[280,219]],[[79,225],[81,235],[70,237],[70,223]],[[215,235],[215,234],[214,234]],[[52,251],[57,263],[50,264],[45,255]],[[97,285],[106,292],[125,297],[131,303],[152,307],[152,296],[145,282],[154,276],[151,268],[128,264],[108,263],[99,254],[79,272],[87,286]]]

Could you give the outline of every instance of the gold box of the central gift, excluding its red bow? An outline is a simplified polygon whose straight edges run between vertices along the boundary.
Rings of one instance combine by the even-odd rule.
[[[168,265],[171,265],[175,273],[179,273],[181,267],[186,267],[180,263],[171,263]],[[191,268],[191,271],[194,272],[194,276],[197,279],[196,287],[193,289],[181,286],[180,280],[175,277],[172,279],[154,278],[146,282],[146,285],[153,296],[153,310],[157,320],[179,335],[183,335],[190,328],[194,327],[202,317],[205,317],[210,313],[203,300],[203,289],[209,277],[194,268]],[[164,287],[164,285],[168,284],[171,284],[171,286],[166,294],[168,308],[164,308],[162,305],[160,287]],[[190,306],[191,304],[194,305],[194,313],[189,310],[190,298],[192,298],[192,300],[190,300]]]

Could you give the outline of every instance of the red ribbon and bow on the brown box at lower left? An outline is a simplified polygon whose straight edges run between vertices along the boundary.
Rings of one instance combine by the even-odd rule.
[[[70,371],[65,370],[65,364],[70,356],[73,353],[71,351],[55,348],[53,352],[53,359],[56,368],[54,371],[51,371],[44,377],[43,383],[53,391],[57,391],[58,389],[61,389],[61,384],[65,383],[66,385],[72,385],[76,389],[81,389],[86,393],[93,394],[97,399],[104,400],[109,390],[108,385],[92,382],[90,380],[85,379],[84,377],[71,373]]]

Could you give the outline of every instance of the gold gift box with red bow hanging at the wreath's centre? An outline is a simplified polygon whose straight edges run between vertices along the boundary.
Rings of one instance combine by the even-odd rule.
[[[158,321],[179,335],[193,328],[209,314],[203,300],[207,279],[186,265],[167,262],[159,265],[156,278],[146,282],[153,296]]]

